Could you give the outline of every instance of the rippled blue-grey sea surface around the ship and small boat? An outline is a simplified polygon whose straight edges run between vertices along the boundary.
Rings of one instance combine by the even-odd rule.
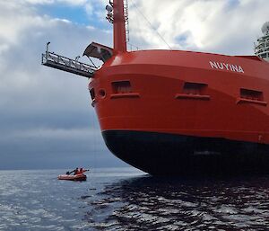
[[[0,171],[0,230],[269,230],[269,176],[154,178],[134,168]]]

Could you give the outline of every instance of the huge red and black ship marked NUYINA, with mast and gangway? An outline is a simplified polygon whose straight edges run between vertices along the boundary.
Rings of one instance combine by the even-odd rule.
[[[128,51],[125,2],[106,9],[113,48],[92,42],[103,65],[80,68],[108,149],[152,175],[269,173],[269,22],[253,56]]]

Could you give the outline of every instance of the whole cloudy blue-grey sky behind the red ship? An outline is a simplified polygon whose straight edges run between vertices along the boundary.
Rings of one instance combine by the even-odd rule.
[[[127,166],[101,138],[88,80],[40,65],[48,41],[69,58],[91,41],[112,46],[107,2],[0,0],[0,170]],[[269,21],[268,0],[128,3],[130,43],[140,49],[253,55]]]

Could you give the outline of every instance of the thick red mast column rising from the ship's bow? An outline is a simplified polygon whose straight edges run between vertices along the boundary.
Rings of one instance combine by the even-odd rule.
[[[126,52],[126,19],[124,0],[113,1],[114,52]]]

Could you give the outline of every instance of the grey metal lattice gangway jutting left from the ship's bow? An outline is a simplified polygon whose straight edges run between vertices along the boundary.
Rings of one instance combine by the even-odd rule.
[[[48,43],[49,44],[49,43]],[[92,78],[98,67],[94,67],[78,61],[78,58],[66,58],[47,50],[42,54],[42,65],[73,73],[78,76]]]

